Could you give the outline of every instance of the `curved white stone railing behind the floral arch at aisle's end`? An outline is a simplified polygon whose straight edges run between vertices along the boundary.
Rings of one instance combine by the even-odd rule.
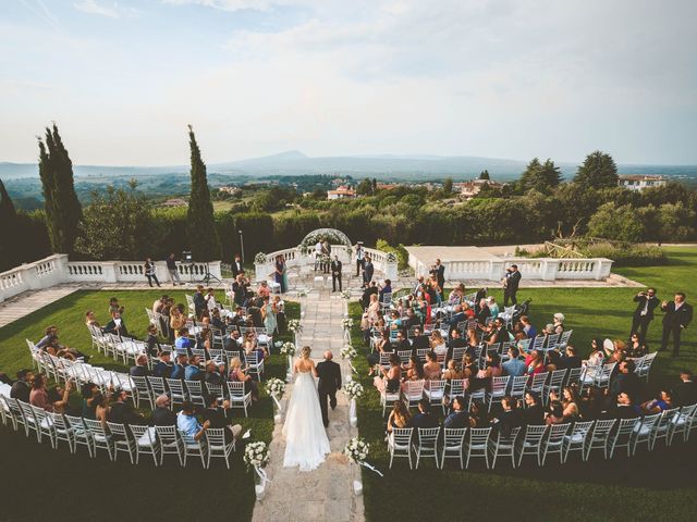
[[[372,264],[376,271],[380,271],[386,277],[396,279],[396,261],[388,261],[387,252],[376,250],[374,248],[366,248],[366,253],[372,259]],[[355,256],[348,253],[344,245],[332,245],[331,254],[339,256],[339,259],[344,265],[344,271],[355,270]],[[311,266],[315,263],[314,249],[308,253],[303,253],[298,247],[285,248],[283,250],[277,250],[266,254],[266,262],[254,263],[256,281],[266,281],[272,277],[276,270],[276,260],[279,256],[283,256],[285,265],[290,269],[293,266]]]

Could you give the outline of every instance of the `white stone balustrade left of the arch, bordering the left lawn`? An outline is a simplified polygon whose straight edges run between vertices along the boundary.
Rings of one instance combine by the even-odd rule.
[[[137,283],[146,281],[143,261],[68,261],[57,253],[0,273],[0,301],[26,290],[50,288],[62,283]],[[200,281],[206,268],[220,278],[220,261],[210,263],[176,263],[183,282]],[[160,282],[169,281],[164,261],[155,262]]]

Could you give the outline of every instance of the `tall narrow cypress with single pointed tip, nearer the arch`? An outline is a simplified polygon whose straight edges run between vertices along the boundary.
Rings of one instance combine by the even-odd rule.
[[[222,256],[220,238],[213,220],[213,203],[210,201],[206,163],[200,158],[200,149],[191,125],[188,140],[192,149],[192,195],[186,214],[188,245],[196,261],[213,261]]]

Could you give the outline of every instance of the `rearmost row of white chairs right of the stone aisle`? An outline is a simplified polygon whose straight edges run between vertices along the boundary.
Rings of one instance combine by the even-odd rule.
[[[437,468],[445,459],[456,459],[460,468],[468,468],[472,458],[484,458],[487,469],[496,468],[499,457],[510,457],[513,468],[523,457],[533,456],[538,465],[545,465],[548,455],[559,455],[565,463],[571,451],[578,451],[587,461],[592,450],[602,450],[611,459],[615,450],[626,449],[626,456],[636,453],[646,444],[649,451],[663,439],[670,447],[677,435],[687,442],[697,428],[697,405],[673,408],[661,413],[635,419],[609,419],[552,425],[515,427],[503,435],[496,427],[413,427],[394,428],[388,437],[390,468],[395,458],[406,458],[413,469],[416,456],[418,469],[421,457],[432,457]]]

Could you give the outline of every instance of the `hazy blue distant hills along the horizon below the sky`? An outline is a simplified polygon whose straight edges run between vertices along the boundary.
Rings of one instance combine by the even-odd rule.
[[[303,174],[352,175],[354,177],[377,177],[379,179],[437,179],[450,176],[454,179],[467,179],[488,170],[491,177],[499,181],[517,178],[527,161],[479,158],[479,157],[440,157],[427,154],[376,154],[310,158],[297,150],[250,158],[241,161],[211,163],[209,174],[245,176],[283,176]],[[564,177],[570,178],[576,172],[577,163],[559,163]],[[678,179],[697,179],[697,165],[641,165],[620,164],[621,173],[663,174]],[[163,174],[187,174],[188,165],[172,166],[100,166],[76,165],[78,177],[143,177]],[[38,177],[38,167],[33,163],[0,162],[0,178],[17,179]]]

